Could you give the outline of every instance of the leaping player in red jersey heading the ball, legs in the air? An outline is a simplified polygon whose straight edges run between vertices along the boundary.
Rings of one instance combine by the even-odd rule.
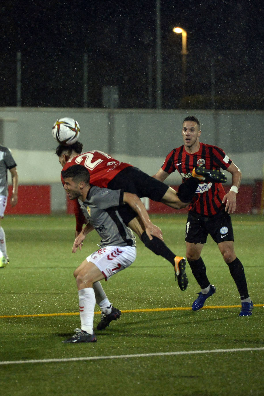
[[[59,157],[61,166],[63,166],[63,170],[74,164],[81,164],[89,170],[91,184],[93,185],[107,187],[112,190],[123,188],[124,191],[137,194],[140,198],[148,197],[154,201],[163,202],[175,209],[181,209],[188,205],[188,202],[192,200],[197,189],[199,179],[207,177],[214,180],[226,180],[226,177],[218,171],[211,172],[207,169],[197,167],[196,170],[199,172],[199,175],[196,176],[197,178],[190,178],[188,183],[185,185],[182,184],[179,187],[179,191],[176,192],[173,188],[160,183],[140,169],[125,162],[115,160],[109,154],[99,150],[82,153],[82,148],[82,143],[79,141],[70,146],[59,145],[57,147],[56,154]],[[74,213],[77,235],[84,224],[84,217],[77,201],[74,203]],[[139,235],[139,238],[148,249],[156,255],[161,255],[173,265],[175,268],[175,280],[177,279],[180,289],[185,290],[188,286],[188,278],[185,273],[185,258],[175,255],[165,245],[162,238],[153,235],[152,240],[150,240],[144,227],[142,227],[140,219],[136,218],[137,213],[129,208],[129,206],[121,208],[120,215],[125,224]]]

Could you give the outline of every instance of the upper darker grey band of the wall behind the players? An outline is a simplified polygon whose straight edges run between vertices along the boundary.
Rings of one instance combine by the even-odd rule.
[[[263,111],[0,108],[0,141],[22,150],[51,150],[53,123],[78,120],[88,149],[132,156],[161,156],[182,143],[182,121],[195,115],[201,140],[233,153],[263,151]]]

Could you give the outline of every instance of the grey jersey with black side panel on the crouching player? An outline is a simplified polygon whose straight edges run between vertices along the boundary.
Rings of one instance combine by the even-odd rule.
[[[118,206],[123,205],[123,190],[91,186],[86,200],[79,203],[87,223],[101,236],[101,247],[136,246],[135,235],[118,213]]]

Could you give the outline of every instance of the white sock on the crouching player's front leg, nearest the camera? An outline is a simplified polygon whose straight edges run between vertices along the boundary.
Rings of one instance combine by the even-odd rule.
[[[93,315],[95,312],[95,292],[92,287],[78,290],[81,329],[93,334]]]

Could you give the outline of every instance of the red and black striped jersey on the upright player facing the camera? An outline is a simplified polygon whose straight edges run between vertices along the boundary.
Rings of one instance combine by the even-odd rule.
[[[182,181],[192,177],[192,169],[204,166],[206,169],[228,169],[232,160],[217,146],[200,143],[200,148],[194,154],[189,154],[184,145],[171,150],[161,167],[163,171],[172,173],[177,170]],[[225,195],[221,183],[201,182],[196,194],[190,203],[189,210],[206,216],[215,215],[224,208],[222,199]]]

